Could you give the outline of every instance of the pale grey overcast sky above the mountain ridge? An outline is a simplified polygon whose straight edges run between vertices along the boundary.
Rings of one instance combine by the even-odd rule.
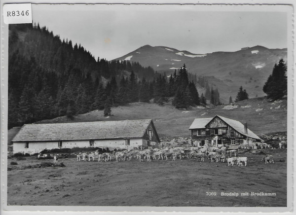
[[[96,59],[112,60],[147,44],[194,54],[237,51],[256,45],[287,48],[285,12],[212,8],[205,11],[193,5],[32,5],[33,22],[48,27],[61,39],[80,43]]]

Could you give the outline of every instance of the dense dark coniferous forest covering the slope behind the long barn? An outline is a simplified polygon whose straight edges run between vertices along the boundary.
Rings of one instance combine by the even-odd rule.
[[[177,108],[205,104],[195,83],[185,65],[167,76],[138,62],[96,60],[39,24],[9,25],[8,128],[151,99],[162,105],[174,97]]]

